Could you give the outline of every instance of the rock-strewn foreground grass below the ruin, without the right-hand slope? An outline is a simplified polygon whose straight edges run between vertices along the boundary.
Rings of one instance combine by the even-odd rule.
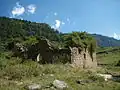
[[[98,69],[99,71],[102,71]],[[68,90],[120,90],[120,83],[96,77],[99,71],[81,70],[69,65],[39,65],[35,62],[11,65],[0,72],[0,90],[24,90],[24,86],[31,83],[42,85],[42,90],[52,90],[49,87],[55,79],[65,81]],[[105,71],[102,71],[105,72]],[[77,80],[94,80],[84,85]]]

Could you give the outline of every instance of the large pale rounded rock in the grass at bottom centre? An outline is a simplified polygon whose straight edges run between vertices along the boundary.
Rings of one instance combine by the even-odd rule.
[[[65,83],[64,81],[59,81],[59,80],[54,80],[53,81],[53,86],[55,88],[61,89],[61,90],[68,88],[67,83]]]

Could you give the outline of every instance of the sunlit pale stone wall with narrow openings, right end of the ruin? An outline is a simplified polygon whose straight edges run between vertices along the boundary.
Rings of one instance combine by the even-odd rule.
[[[75,67],[95,68],[97,67],[96,53],[91,56],[88,49],[79,50],[77,47],[70,48],[71,63]]]

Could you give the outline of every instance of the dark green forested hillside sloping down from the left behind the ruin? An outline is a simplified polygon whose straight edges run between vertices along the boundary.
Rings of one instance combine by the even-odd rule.
[[[29,36],[45,37],[51,41],[59,41],[58,31],[48,24],[0,17],[0,49],[13,40],[22,41]]]

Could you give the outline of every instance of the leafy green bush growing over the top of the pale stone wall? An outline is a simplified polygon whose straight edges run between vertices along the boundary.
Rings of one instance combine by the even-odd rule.
[[[86,32],[73,32],[63,38],[67,47],[89,48],[90,52],[96,49],[96,40]]]

